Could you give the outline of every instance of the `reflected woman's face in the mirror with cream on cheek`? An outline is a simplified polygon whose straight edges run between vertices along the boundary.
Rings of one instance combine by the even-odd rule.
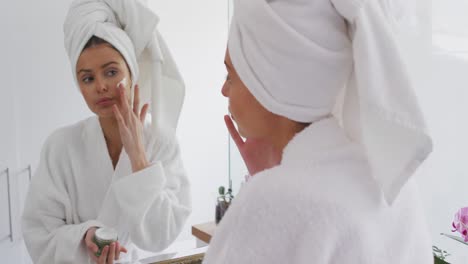
[[[117,85],[124,78],[130,98],[130,71],[122,55],[109,44],[99,44],[84,49],[76,66],[78,84],[89,109],[99,117],[114,117],[112,106],[119,102]]]

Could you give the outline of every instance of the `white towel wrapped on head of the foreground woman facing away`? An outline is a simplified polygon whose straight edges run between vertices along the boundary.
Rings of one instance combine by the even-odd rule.
[[[384,0],[237,0],[232,63],[269,111],[328,116],[361,143],[387,202],[432,150]],[[346,87],[344,101],[339,93]],[[343,116],[341,116],[343,115]]]

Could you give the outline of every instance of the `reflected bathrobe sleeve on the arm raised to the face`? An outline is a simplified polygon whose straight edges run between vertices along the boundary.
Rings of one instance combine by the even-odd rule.
[[[128,229],[141,249],[161,251],[176,239],[191,212],[189,181],[175,136],[153,141],[147,156],[149,167],[112,183],[98,220]]]

